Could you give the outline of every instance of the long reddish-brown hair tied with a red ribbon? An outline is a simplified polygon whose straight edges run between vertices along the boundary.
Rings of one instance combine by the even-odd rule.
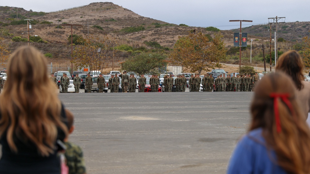
[[[281,71],[264,76],[255,87],[251,104],[250,130],[262,128],[267,148],[277,154],[276,163],[287,173],[310,173],[310,130],[296,101],[293,80]],[[288,94],[290,107],[275,94]],[[274,104],[278,103],[281,131],[276,125]],[[270,155],[271,157],[272,155]]]

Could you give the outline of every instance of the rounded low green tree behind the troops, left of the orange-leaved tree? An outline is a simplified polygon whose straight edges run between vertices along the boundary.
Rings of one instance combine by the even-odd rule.
[[[122,69],[141,74],[161,73],[166,54],[140,53],[122,63]]]

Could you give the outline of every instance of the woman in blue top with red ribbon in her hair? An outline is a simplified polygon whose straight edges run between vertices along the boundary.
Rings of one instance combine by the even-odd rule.
[[[251,115],[250,129],[238,142],[227,173],[310,173],[310,130],[286,74],[277,71],[259,81]]]

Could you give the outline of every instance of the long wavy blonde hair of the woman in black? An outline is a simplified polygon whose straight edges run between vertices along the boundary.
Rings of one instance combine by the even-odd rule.
[[[67,134],[46,58],[38,50],[21,47],[10,56],[0,112],[0,137],[6,134],[11,151],[16,153],[15,138],[32,142],[40,155],[49,156],[55,150],[57,128]]]

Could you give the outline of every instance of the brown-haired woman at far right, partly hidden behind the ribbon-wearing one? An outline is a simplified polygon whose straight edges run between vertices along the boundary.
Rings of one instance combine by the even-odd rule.
[[[294,85],[297,87],[296,99],[300,103],[306,120],[308,112],[310,112],[310,83],[305,81],[303,67],[303,60],[299,53],[287,51],[279,57],[276,70],[281,70],[292,78]]]

